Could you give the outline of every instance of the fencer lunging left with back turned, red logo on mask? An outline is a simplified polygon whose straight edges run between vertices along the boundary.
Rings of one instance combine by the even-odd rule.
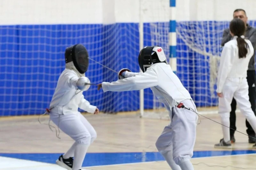
[[[156,97],[169,111],[171,122],[165,126],[156,141],[157,150],[173,170],[193,170],[190,158],[196,140],[196,113],[184,108],[175,107],[179,102],[196,111],[196,106],[180,79],[167,64],[164,51],[159,46],[145,47],[139,54],[139,65],[143,73],[122,69],[120,80],[112,83],[102,82],[107,91],[132,91],[151,88]],[[122,79],[123,77],[123,79]]]

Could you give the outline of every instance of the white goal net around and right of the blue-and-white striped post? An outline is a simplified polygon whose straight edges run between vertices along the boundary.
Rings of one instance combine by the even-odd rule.
[[[244,9],[248,16],[248,24],[256,26],[254,9],[248,6],[248,4],[254,6],[256,2],[248,0],[246,3],[247,5],[237,2],[239,5],[235,5],[226,0],[176,1],[176,74],[190,93],[201,114],[217,113],[216,82],[221,39],[224,29],[229,27],[233,11],[238,8]],[[228,5],[229,8],[226,8]],[[144,37],[144,42],[146,45],[162,45],[166,55],[169,56],[169,1],[159,1],[156,6],[161,10],[145,14],[154,19],[146,25],[147,30],[150,30],[148,33],[150,38]],[[209,6],[211,6],[210,9]],[[170,119],[164,106],[152,95],[150,90],[145,90],[145,99],[148,98],[145,108],[149,110],[145,110],[143,116]]]

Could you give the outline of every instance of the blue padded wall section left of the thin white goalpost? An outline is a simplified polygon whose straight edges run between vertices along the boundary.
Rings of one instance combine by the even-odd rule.
[[[130,28],[136,31],[131,32],[128,30]],[[102,34],[104,31],[110,35]],[[115,67],[117,65],[115,63],[125,60],[126,54],[136,58],[138,56],[139,31],[138,24],[134,23],[105,26],[102,24],[0,26],[0,37],[0,108],[2,108],[0,116],[42,114],[44,109],[49,107],[58,77],[65,68],[66,44],[85,44],[94,60],[113,70],[127,67],[139,71],[139,66],[134,67],[131,62],[126,62],[119,68]],[[81,37],[89,38],[81,39]],[[127,37],[134,38],[131,40]],[[127,46],[127,44],[132,45]],[[111,48],[120,50],[115,50],[118,53],[113,53],[113,50],[109,51]],[[105,51],[109,52],[104,53]],[[102,62],[102,58],[109,60]],[[99,64],[93,64],[93,61],[90,63],[92,64],[89,65],[86,76],[92,83],[116,80],[115,72],[106,70]],[[109,74],[104,74],[106,72]],[[84,92],[84,96],[92,105],[101,106],[99,109],[104,112],[137,110],[139,92],[136,92],[138,97],[132,102],[125,100],[127,96],[131,96],[129,93],[131,92],[122,92],[121,99],[120,97],[118,99],[124,98],[125,102],[118,105],[113,104],[117,100],[115,97],[118,95],[117,92],[98,92],[96,86],[91,86],[90,90]]]

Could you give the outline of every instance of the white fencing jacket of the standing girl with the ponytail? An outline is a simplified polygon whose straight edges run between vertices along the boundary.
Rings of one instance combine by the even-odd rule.
[[[241,36],[244,38],[244,36]],[[252,47],[251,41],[245,39],[248,44],[248,53],[245,58],[239,58],[238,47],[237,47],[237,36],[234,36],[232,40],[225,43],[221,56],[220,56],[220,67],[218,71],[218,81],[217,81],[217,92],[221,93],[225,81],[228,78],[246,78],[248,64],[254,49]]]

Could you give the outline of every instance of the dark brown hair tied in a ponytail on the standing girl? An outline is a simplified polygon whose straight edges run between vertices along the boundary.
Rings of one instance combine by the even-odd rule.
[[[238,56],[239,58],[245,58],[248,53],[248,44],[244,40],[245,24],[239,18],[234,18],[230,24],[229,29],[231,33],[237,36]],[[243,36],[243,37],[242,37]]]

